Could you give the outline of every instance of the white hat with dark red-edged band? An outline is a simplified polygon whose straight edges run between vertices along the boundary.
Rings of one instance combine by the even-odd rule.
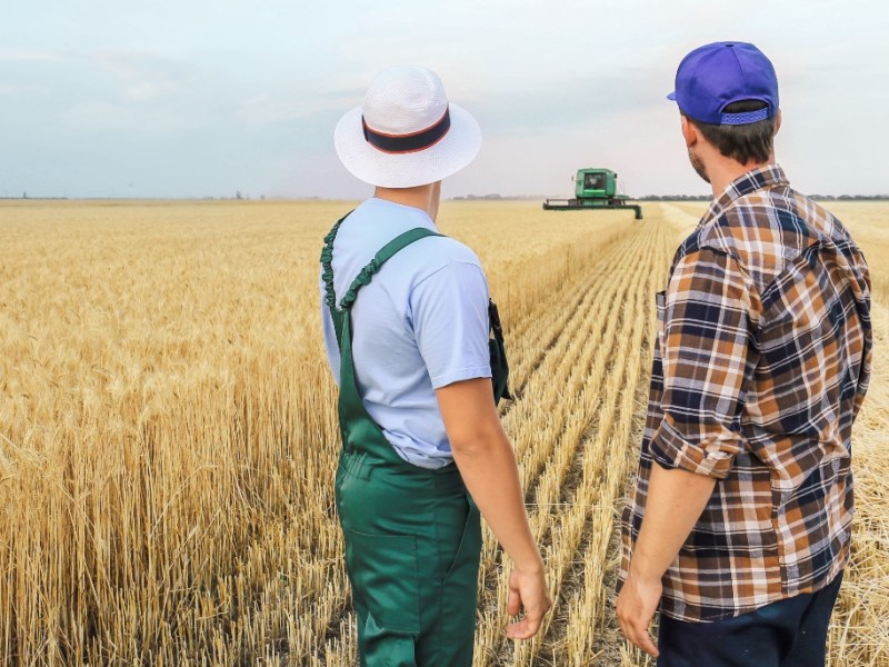
[[[448,102],[438,74],[406,64],[377,74],[364,103],[340,119],[333,145],[362,181],[411,188],[469,165],[481,146],[481,129],[468,111]]]

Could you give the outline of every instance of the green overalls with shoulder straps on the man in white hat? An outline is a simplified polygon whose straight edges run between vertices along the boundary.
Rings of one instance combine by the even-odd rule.
[[[481,550],[478,509],[456,465],[430,470],[398,456],[364,408],[351,349],[351,307],[360,288],[406,246],[441,235],[418,228],[387,243],[338,309],[331,262],[341,222],[324,238],[321,263],[341,359],[336,498],[361,665],[470,667]],[[491,357],[498,365],[495,386],[503,396],[506,356],[499,321],[496,327]]]

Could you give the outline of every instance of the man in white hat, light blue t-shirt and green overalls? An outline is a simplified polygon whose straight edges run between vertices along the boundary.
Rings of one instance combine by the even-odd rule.
[[[377,74],[334,143],[376,186],[321,256],[361,664],[469,666],[479,510],[513,563],[508,611],[525,609],[508,636],[531,637],[551,604],[496,409],[507,367],[488,283],[476,255],[436,228],[441,179],[476,157],[481,132],[434,72],[404,66]]]

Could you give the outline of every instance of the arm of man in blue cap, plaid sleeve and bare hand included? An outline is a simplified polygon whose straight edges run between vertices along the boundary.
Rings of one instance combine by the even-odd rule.
[[[759,301],[729,256],[701,249],[676,267],[667,289],[661,356],[663,421],[645,519],[617,603],[627,638],[657,655],[648,627],[661,578],[743,446],[735,418],[749,374],[749,322]]]

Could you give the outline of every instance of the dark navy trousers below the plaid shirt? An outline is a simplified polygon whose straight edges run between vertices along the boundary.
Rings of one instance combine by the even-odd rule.
[[[661,615],[658,667],[823,667],[841,581],[715,623]]]

